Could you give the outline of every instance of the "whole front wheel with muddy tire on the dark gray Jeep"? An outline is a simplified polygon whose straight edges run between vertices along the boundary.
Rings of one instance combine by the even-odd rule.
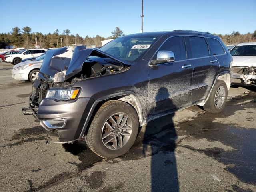
[[[85,141],[98,156],[115,158],[132,147],[138,127],[138,115],[132,106],[122,101],[110,100],[96,112]]]

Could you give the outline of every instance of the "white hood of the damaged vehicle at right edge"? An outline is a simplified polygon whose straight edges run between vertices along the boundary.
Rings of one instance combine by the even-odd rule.
[[[233,67],[256,66],[256,56],[233,56]]]

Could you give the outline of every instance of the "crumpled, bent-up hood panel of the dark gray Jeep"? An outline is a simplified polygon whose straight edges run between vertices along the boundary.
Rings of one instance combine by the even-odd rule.
[[[123,64],[130,65],[129,62],[120,60],[98,49],[86,48],[84,46],[63,47],[46,52],[39,76],[40,78],[53,80],[55,74],[65,71],[64,80],[66,81],[82,71],[84,61],[90,55],[109,57]]]

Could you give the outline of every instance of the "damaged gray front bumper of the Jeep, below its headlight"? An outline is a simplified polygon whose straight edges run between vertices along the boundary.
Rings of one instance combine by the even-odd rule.
[[[68,143],[80,138],[86,119],[86,105],[90,98],[77,98],[58,102],[43,99],[36,113],[32,106],[23,108],[24,115],[34,115],[50,136],[53,142]]]

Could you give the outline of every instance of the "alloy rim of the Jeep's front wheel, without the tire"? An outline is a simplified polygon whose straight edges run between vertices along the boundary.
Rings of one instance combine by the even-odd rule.
[[[125,113],[111,115],[102,127],[102,142],[112,150],[123,147],[132,134],[131,118]]]

